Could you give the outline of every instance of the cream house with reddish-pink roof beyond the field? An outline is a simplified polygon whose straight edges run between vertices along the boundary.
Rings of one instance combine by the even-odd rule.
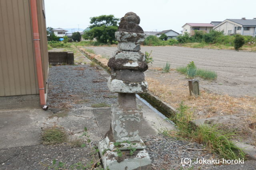
[[[212,23],[186,23],[182,26],[182,35],[187,32],[190,36],[194,35],[194,30],[204,31],[209,33],[214,25]]]

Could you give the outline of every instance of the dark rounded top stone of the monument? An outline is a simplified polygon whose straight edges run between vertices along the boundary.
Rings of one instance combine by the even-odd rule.
[[[128,12],[121,18],[117,31],[130,33],[144,33],[143,29],[138,25],[140,17],[134,12]]]

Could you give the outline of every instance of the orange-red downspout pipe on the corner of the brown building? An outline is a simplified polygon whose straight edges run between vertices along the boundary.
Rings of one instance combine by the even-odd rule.
[[[42,109],[48,109],[46,106],[45,98],[44,98],[44,80],[43,80],[43,72],[42,72],[42,61],[41,61],[41,51],[40,51],[40,39],[39,39],[39,31],[38,31],[38,20],[37,20],[37,8],[36,8],[36,0],[30,0],[31,7],[31,17],[32,17],[32,27],[33,27],[33,41],[35,48],[35,57],[36,57],[36,72],[38,78],[38,89],[40,96],[40,105]]]

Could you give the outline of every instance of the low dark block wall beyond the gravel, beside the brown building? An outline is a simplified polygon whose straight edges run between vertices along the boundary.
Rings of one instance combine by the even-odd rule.
[[[49,64],[56,65],[61,63],[67,63],[70,65],[74,64],[74,53],[73,52],[59,52],[49,51]]]

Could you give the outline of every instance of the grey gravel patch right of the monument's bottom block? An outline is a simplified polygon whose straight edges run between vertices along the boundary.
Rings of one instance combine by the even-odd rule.
[[[213,168],[213,164],[195,164],[193,162],[198,158],[203,159],[218,159],[209,151],[189,150],[189,149],[204,149],[203,145],[198,143],[189,143],[175,138],[166,137],[164,135],[156,135],[154,137],[143,138],[146,144],[148,153],[152,160],[153,169],[208,169]],[[190,158],[191,165],[184,164],[182,166],[182,158]]]

